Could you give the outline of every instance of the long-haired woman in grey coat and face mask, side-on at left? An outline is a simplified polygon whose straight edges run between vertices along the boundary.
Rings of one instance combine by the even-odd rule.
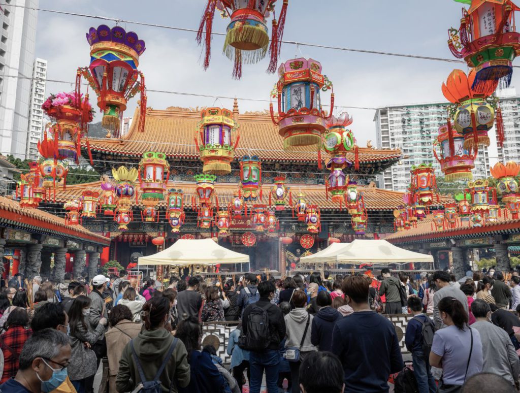
[[[100,318],[93,330],[89,324],[91,300],[80,295],[74,299],[69,311],[70,343],[72,356],[69,377],[77,393],[92,391],[97,371],[96,353],[88,346],[94,345],[105,333],[106,318]],[[85,345],[87,343],[88,345]]]

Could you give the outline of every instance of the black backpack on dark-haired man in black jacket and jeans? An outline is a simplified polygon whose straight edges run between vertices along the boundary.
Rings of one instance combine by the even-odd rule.
[[[269,305],[271,307],[273,305]],[[240,337],[239,346],[250,351],[262,351],[271,343],[271,331],[269,328],[269,314],[267,309],[253,305],[249,311],[248,320],[245,321],[247,332]]]

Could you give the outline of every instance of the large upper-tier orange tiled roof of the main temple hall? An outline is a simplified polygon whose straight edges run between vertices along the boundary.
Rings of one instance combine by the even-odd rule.
[[[139,113],[136,109],[132,126],[122,139],[90,139],[90,149],[100,152],[112,152],[121,155],[142,156],[146,151],[160,151],[170,158],[196,159],[199,152],[194,143],[195,129],[200,121],[200,111],[183,108],[167,108],[166,110],[147,109],[145,131],[139,133],[137,124]],[[262,161],[307,162],[317,160],[316,151],[292,151],[282,149],[283,138],[277,127],[272,124],[271,117],[264,113],[239,114],[240,141],[236,156],[245,154],[258,155]],[[354,131],[361,140],[361,132]],[[85,142],[83,143],[85,147]],[[324,158],[327,154],[324,154]],[[347,158],[354,161],[354,153]],[[399,160],[403,158],[401,151],[359,149],[360,162],[378,162]]]

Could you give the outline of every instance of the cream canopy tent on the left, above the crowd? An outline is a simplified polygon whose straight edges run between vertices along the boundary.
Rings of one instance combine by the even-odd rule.
[[[157,254],[139,257],[137,265],[249,264],[249,255],[218,245],[212,239],[179,239]]]

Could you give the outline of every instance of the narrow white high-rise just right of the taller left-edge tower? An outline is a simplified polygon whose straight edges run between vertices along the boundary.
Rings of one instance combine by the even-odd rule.
[[[47,60],[36,58],[34,60],[31,106],[29,108],[29,129],[25,158],[38,159],[38,141],[42,140],[45,122],[43,119],[42,104],[45,100],[45,82],[47,78]]]

